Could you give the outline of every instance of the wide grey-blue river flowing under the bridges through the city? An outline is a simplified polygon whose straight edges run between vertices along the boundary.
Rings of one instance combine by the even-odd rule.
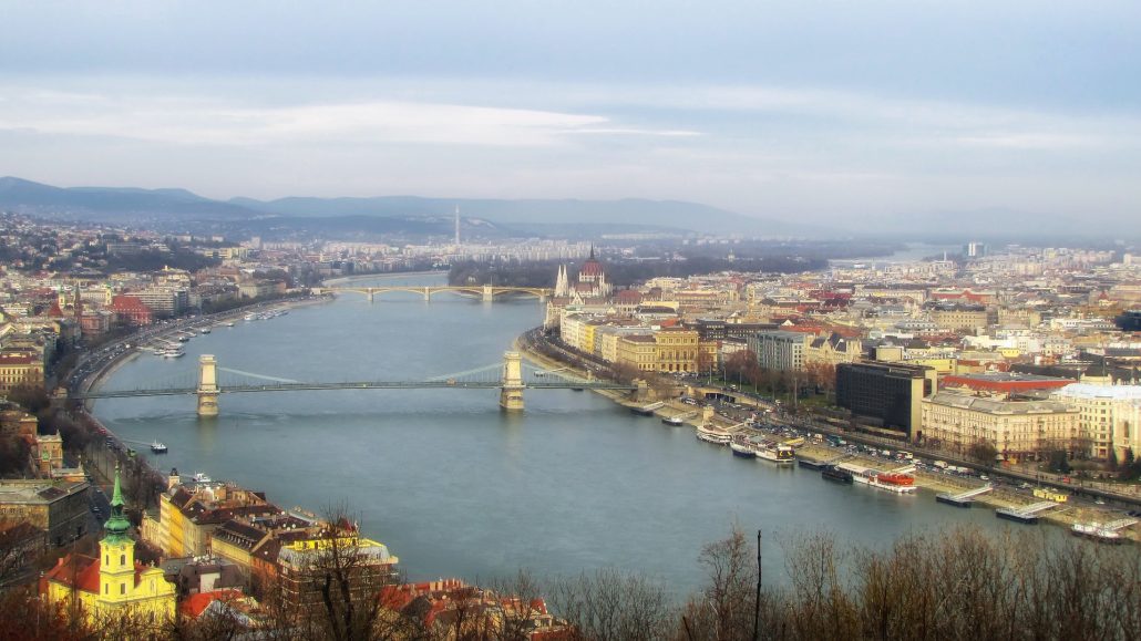
[[[495,364],[541,322],[534,299],[440,294],[426,303],[394,293],[370,305],[345,294],[216,327],[188,342],[185,358],[140,354],[105,387],[192,376],[200,354],[217,356],[220,367],[298,381],[423,380]],[[348,390],[222,395],[221,415],[210,421],[195,416],[192,397],[99,400],[95,414],[120,438],[167,443],[170,453],[154,457],[160,469],[233,480],[285,509],[347,505],[416,581],[620,567],[680,593],[701,581],[702,545],[731,522],[763,529],[774,582],[784,571],[782,535],[826,529],[882,545],[953,524],[1001,527],[992,510],[942,506],[925,492],[837,486],[808,470],[734,459],[690,428],[590,392],[528,391],[521,415],[501,413],[497,401],[494,390]]]

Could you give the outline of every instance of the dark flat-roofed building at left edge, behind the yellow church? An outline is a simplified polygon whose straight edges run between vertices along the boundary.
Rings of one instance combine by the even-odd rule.
[[[91,485],[84,481],[0,481],[0,517],[44,530],[48,543],[66,545],[88,532]]]

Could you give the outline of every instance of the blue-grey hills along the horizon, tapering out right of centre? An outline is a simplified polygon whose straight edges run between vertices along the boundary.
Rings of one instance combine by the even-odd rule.
[[[772,219],[742,216],[718,208],[681,201],[617,200],[470,200],[419,196],[371,198],[288,197],[275,201],[232,198],[215,201],[186,189],[135,189],[112,187],[52,187],[21,178],[0,178],[0,208],[40,216],[106,222],[248,221],[264,227],[267,218],[306,228],[322,220],[345,229],[362,224],[370,230],[424,234],[448,233],[455,208],[464,228],[483,232],[548,235],[567,226],[593,233],[707,232],[750,236],[786,237],[818,235],[819,228]],[[386,219],[370,222],[370,219]],[[256,222],[257,221],[257,222]],[[402,224],[400,221],[405,221]]]

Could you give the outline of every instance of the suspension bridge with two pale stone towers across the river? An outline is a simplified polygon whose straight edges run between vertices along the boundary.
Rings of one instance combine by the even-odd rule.
[[[219,372],[229,374],[226,381],[219,379]],[[588,374],[589,376],[589,374]],[[224,384],[225,383],[225,384]],[[228,370],[218,366],[218,360],[209,354],[199,357],[197,380],[177,378],[151,388],[132,389],[98,389],[72,392],[68,398],[74,400],[95,400],[99,398],[136,398],[146,396],[196,396],[199,416],[218,415],[218,397],[222,393],[254,393],[270,391],[317,391],[348,389],[497,389],[500,390],[500,407],[517,412],[524,408],[523,391],[525,389],[574,389],[574,390],[620,390],[638,392],[645,396],[642,384],[617,383],[582,379],[569,373],[543,371],[524,365],[518,351],[503,354],[502,364],[486,365],[444,374],[422,381],[297,381],[277,376],[267,376],[241,370]]]

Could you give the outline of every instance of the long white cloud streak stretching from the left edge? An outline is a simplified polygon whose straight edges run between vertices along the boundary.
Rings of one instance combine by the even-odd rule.
[[[173,145],[426,144],[543,147],[568,135],[695,136],[630,128],[560,111],[365,99],[253,106],[217,97],[22,91],[0,104],[0,128]]]

